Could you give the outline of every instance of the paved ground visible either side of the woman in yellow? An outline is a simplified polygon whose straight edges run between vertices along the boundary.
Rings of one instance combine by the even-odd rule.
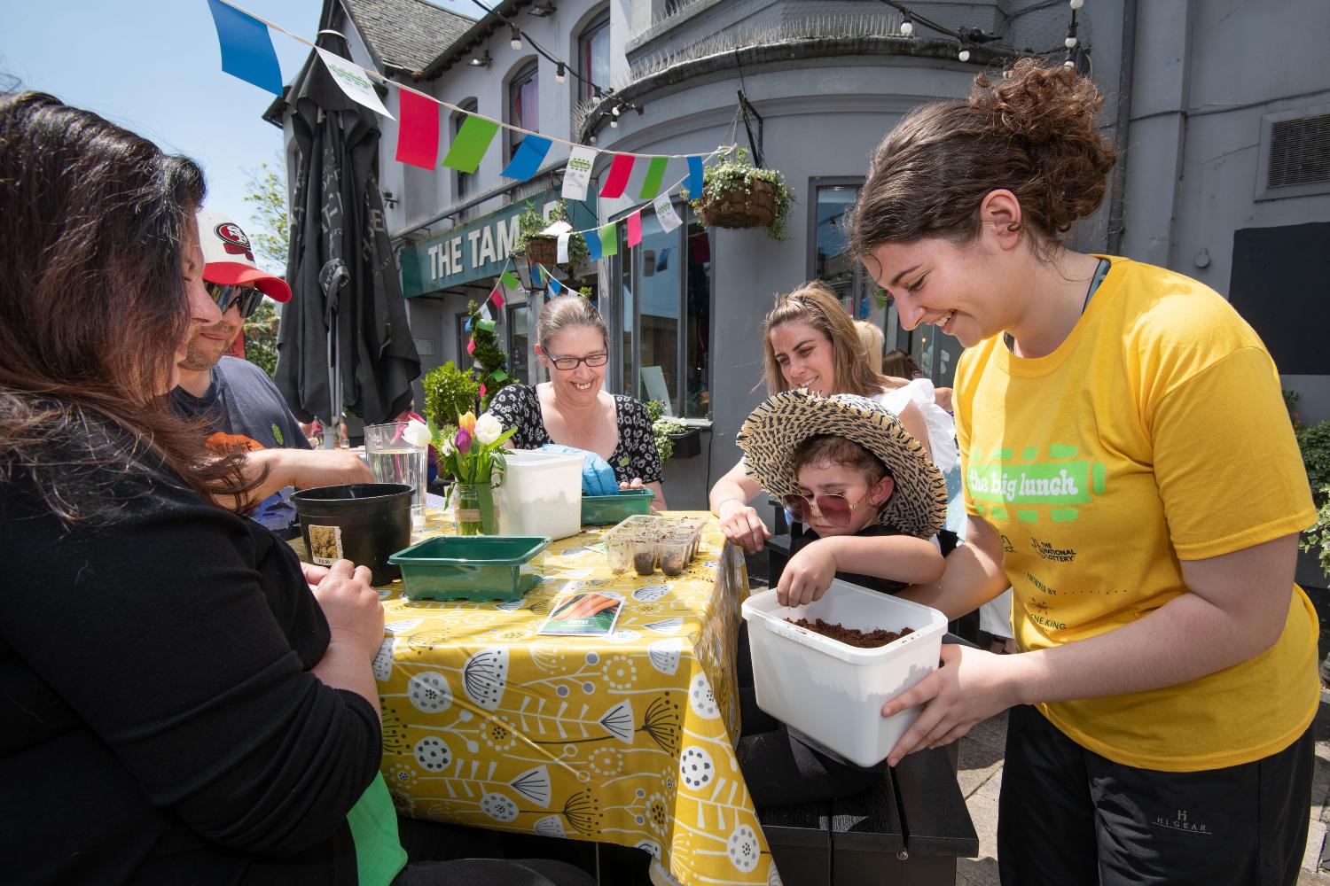
[[[1330,886],[1330,858],[1321,869],[1330,824],[1330,691],[1321,692],[1315,720],[1317,764],[1311,781],[1311,822],[1298,886]],[[960,740],[960,792],[979,833],[979,858],[956,863],[956,886],[998,886],[998,789],[1001,786],[1007,713],[984,720]]]

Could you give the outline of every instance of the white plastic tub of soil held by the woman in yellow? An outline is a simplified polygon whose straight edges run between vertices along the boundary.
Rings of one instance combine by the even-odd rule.
[[[781,606],[773,588],[743,600],[742,611],[758,707],[861,766],[884,760],[922,708],[883,719],[882,705],[938,668],[947,616],[841,580],[806,606]],[[861,650],[786,622],[801,618],[914,632]]]

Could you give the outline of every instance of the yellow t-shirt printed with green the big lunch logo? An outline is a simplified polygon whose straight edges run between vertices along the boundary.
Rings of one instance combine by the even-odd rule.
[[[1189,592],[1180,559],[1315,522],[1256,332],[1196,280],[1111,260],[1056,351],[1016,357],[999,335],[956,369],[966,507],[1001,533],[1023,650],[1112,631]],[[1278,642],[1249,662],[1039,708],[1081,747],[1145,769],[1217,769],[1282,751],[1319,703],[1317,618],[1299,587],[1290,594]]]

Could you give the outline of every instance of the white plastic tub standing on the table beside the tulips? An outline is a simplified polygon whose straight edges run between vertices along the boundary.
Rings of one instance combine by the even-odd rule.
[[[581,531],[581,456],[515,449],[504,458],[508,469],[495,489],[501,535],[568,538]]]

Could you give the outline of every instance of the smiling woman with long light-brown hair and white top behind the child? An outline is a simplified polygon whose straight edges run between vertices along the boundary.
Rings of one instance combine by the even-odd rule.
[[[955,424],[934,402],[927,379],[907,385],[876,371],[841,300],[825,283],[813,280],[778,296],[762,321],[763,377],[767,395],[793,388],[830,397],[853,393],[892,412],[910,434],[923,444],[942,470],[955,464]],[[712,513],[725,537],[750,554],[771,537],[749,502],[761,486],[747,476],[741,458],[712,486]]]

